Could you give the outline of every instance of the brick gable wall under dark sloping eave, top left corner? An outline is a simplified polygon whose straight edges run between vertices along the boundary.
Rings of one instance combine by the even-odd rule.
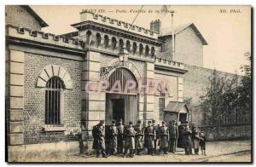
[[[38,20],[29,14],[26,9],[18,5],[5,6],[5,24],[30,28],[32,30],[41,30]]]

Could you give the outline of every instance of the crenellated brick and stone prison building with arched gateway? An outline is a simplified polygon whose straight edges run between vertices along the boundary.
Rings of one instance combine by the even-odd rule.
[[[194,24],[175,27],[173,58],[159,21],[150,30],[82,11],[75,32],[54,35],[29,6],[5,12],[8,161],[90,153],[100,120],[190,120],[184,76],[201,69],[207,44]]]

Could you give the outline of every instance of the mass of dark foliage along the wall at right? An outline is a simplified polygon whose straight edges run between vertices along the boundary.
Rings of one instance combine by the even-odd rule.
[[[247,55],[250,61],[251,56]],[[251,61],[250,61],[251,62]],[[203,124],[248,123],[251,111],[251,66],[241,66],[245,76],[220,75],[216,70],[208,78],[206,94],[201,95]],[[241,82],[238,83],[239,78]]]

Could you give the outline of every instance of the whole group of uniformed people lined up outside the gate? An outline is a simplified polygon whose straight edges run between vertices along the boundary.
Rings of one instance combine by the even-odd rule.
[[[155,121],[148,121],[148,126],[143,127],[142,121],[138,120],[134,125],[129,122],[124,125],[122,119],[119,124],[113,120],[112,124],[105,128],[104,121],[96,124],[92,130],[93,149],[96,150],[96,157],[108,158],[110,155],[123,154],[124,157],[134,157],[140,155],[144,148],[148,154],[154,156],[161,153],[175,153],[177,148],[177,138],[179,136],[177,121],[172,120],[167,126],[165,122],[155,124]],[[199,154],[201,147],[202,154],[206,155],[206,137],[203,132],[187,121],[181,125],[181,135],[185,154]],[[159,149],[157,149],[159,147]]]

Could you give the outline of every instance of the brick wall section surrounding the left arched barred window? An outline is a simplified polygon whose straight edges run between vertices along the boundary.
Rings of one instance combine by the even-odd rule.
[[[42,132],[44,126],[44,89],[36,88],[37,78],[44,66],[58,65],[67,70],[73,80],[73,89],[64,90],[64,126],[80,129],[82,62],[46,55],[26,53],[24,67],[24,142],[35,144],[68,141],[64,132]]]

